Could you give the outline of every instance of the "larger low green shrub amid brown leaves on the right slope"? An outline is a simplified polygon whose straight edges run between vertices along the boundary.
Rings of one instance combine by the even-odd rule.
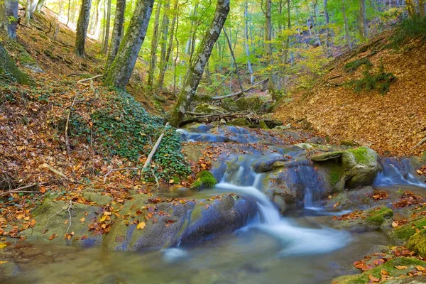
[[[383,63],[381,63],[376,73],[364,70],[363,77],[361,77],[361,79],[351,80],[347,84],[349,87],[354,87],[355,92],[361,92],[362,90],[378,90],[381,94],[386,94],[389,92],[391,83],[395,80],[395,75],[385,72],[385,67],[383,66]]]

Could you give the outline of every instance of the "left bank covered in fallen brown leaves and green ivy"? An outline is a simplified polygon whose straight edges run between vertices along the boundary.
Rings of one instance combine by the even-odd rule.
[[[33,226],[31,212],[46,192],[87,203],[81,190],[102,188],[123,200],[135,185],[149,193],[162,183],[189,185],[195,179],[175,129],[131,95],[65,76],[33,78],[33,86],[0,84],[0,235],[17,237]],[[7,193],[23,186],[29,187]]]

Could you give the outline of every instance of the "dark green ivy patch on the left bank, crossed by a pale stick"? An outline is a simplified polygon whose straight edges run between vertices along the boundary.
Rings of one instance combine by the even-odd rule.
[[[139,102],[127,93],[113,93],[109,105],[92,114],[93,135],[110,155],[119,155],[136,161],[140,155],[148,155],[164,126],[162,120],[151,116]],[[75,135],[88,135],[78,116],[72,126]],[[158,178],[187,175],[190,169],[181,153],[180,138],[175,129],[169,127],[156,151],[153,162]],[[151,175],[151,173],[147,173]]]

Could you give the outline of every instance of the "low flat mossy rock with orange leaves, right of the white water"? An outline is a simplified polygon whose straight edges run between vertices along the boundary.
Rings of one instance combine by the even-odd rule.
[[[393,211],[387,207],[375,207],[364,212],[352,212],[342,219],[334,220],[333,226],[337,229],[349,231],[376,231],[392,222]]]

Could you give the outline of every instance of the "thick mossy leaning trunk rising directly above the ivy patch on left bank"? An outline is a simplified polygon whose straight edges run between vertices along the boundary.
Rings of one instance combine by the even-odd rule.
[[[138,0],[129,27],[121,40],[119,53],[105,70],[104,85],[126,89],[145,39],[153,4],[154,0]]]

